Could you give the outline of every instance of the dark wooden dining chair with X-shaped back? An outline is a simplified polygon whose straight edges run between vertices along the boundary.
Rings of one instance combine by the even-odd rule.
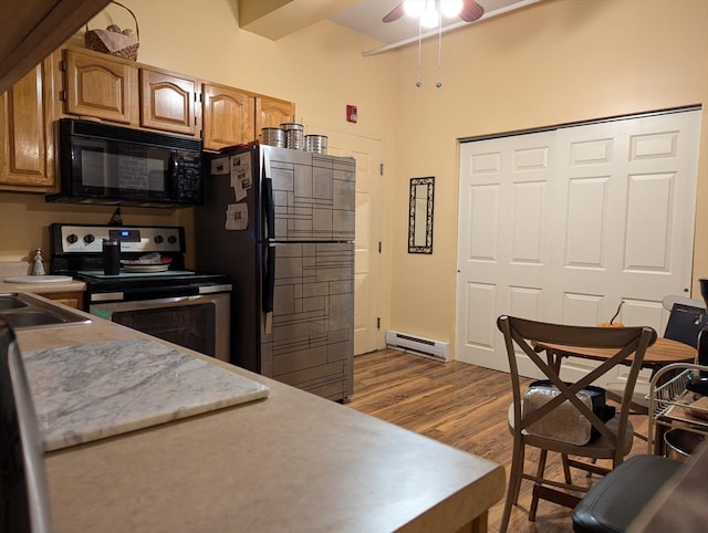
[[[507,531],[511,508],[518,503],[522,480],[533,481],[529,520],[535,521],[539,499],[548,500],[569,508],[575,506],[581,500],[577,492],[587,491],[587,487],[573,483],[571,467],[586,472],[607,473],[612,468],[622,463],[624,457],[632,449],[633,427],[628,419],[627,406],[632,400],[632,393],[636,377],[642,367],[644,353],[656,342],[656,332],[650,327],[584,327],[545,322],[530,321],[502,315],[497,320],[497,326],[504,336],[504,345],[509,359],[513,403],[509,408],[509,430],[513,437],[513,451],[507,500],[502,514],[500,532]],[[603,360],[587,375],[573,384],[564,383],[560,377],[560,368],[551,360],[537,353],[534,343],[562,344],[568,346],[583,346],[595,348],[611,348],[614,355]],[[554,397],[535,410],[523,409],[525,386],[519,375],[518,358],[525,357],[532,362],[548,380],[558,389]],[[582,390],[593,382],[611,372],[616,365],[628,364],[629,374],[627,385],[617,414],[608,421],[603,421],[581,399]],[[524,380],[525,383],[525,380]],[[558,435],[539,435],[534,431],[539,422],[550,419],[559,411],[566,411],[570,406],[576,409],[575,419],[579,425],[590,422],[598,437],[587,443],[570,443]],[[572,408],[572,407],[570,407]],[[562,428],[568,429],[568,428]],[[555,438],[554,438],[555,437]],[[524,457],[527,447],[540,450],[540,459],[535,472],[525,470]],[[549,479],[544,475],[548,452],[561,454],[563,460],[564,481]],[[583,460],[585,459],[585,460]],[[610,460],[611,468],[595,464],[598,459]]]

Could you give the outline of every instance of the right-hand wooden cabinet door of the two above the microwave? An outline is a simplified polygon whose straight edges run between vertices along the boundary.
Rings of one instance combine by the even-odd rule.
[[[140,126],[195,135],[196,93],[195,79],[140,69]]]

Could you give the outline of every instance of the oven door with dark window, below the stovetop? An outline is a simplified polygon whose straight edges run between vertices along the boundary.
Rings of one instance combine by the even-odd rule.
[[[88,312],[179,346],[229,362],[230,293],[132,302],[96,302]]]

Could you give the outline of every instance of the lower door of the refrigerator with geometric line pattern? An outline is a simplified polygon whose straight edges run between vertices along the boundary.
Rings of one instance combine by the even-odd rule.
[[[261,373],[345,399],[353,393],[354,244],[273,248],[272,328],[262,331]]]

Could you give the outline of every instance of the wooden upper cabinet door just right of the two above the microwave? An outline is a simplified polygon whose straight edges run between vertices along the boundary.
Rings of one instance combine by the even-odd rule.
[[[250,143],[253,137],[253,96],[216,84],[202,85],[202,137],[205,149]]]

